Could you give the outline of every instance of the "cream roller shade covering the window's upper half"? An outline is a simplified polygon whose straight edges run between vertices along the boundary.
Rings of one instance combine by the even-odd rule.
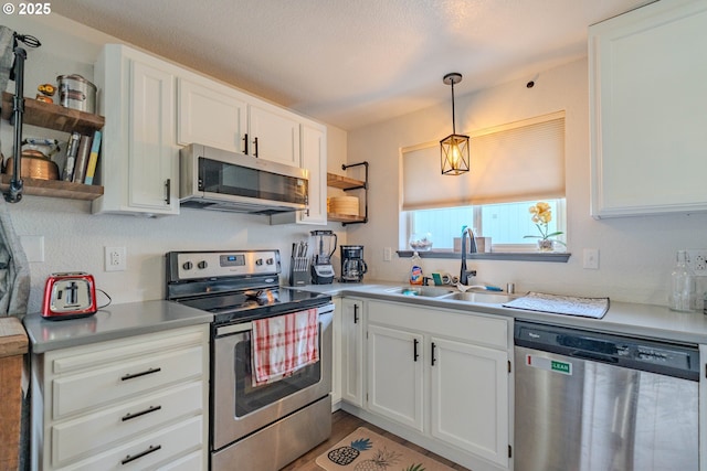
[[[442,175],[439,142],[401,150],[403,211],[564,197],[564,113],[469,136],[462,175]]]

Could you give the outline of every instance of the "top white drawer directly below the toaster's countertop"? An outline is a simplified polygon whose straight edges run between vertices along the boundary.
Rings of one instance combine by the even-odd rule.
[[[180,381],[202,377],[202,345],[112,365],[52,382],[54,420]]]

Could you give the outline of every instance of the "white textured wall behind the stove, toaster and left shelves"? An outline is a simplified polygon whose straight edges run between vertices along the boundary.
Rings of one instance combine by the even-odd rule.
[[[57,75],[80,73],[92,81],[93,63],[102,45],[120,42],[54,13],[44,18],[6,15],[2,24],[19,33],[35,35],[42,42],[40,49],[28,49],[24,88],[28,97],[35,95],[38,85],[54,83]],[[8,90],[14,90],[13,82],[9,83]],[[331,126],[327,132],[329,169],[340,171],[346,161],[347,135]],[[24,136],[60,140],[67,137],[31,126],[25,126]],[[0,139],[3,154],[11,156],[12,127],[7,121],[0,122]],[[30,264],[30,312],[41,309],[44,281],[55,271],[88,271],[114,303],[122,303],[163,297],[163,255],[169,250],[278,248],[286,276],[292,242],[308,237],[309,231],[329,228],[338,233],[340,243],[346,242],[346,232],[338,223],[328,227],[270,226],[265,216],[198,210],[183,210],[179,216],[157,220],[92,215],[88,202],[31,195],[25,195],[20,203],[8,204],[8,208],[19,235],[44,237],[45,261]],[[104,246],[126,247],[126,271],[104,271]],[[99,302],[102,300],[99,296]]]

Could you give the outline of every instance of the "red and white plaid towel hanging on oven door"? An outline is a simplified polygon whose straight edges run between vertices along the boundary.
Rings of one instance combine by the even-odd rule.
[[[253,386],[274,383],[319,361],[317,310],[253,321]]]

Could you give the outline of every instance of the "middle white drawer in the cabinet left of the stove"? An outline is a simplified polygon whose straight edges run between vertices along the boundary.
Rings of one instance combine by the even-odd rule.
[[[180,417],[203,414],[203,383],[193,382],[52,426],[52,464],[96,454],[110,443]]]

